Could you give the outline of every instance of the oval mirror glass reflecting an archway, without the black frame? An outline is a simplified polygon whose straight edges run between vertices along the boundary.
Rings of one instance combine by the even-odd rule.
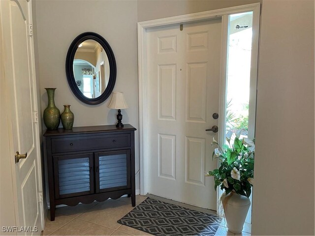
[[[99,97],[109,80],[109,61],[105,50],[93,39],[83,41],[73,59],[75,82],[82,94],[88,98]]]

